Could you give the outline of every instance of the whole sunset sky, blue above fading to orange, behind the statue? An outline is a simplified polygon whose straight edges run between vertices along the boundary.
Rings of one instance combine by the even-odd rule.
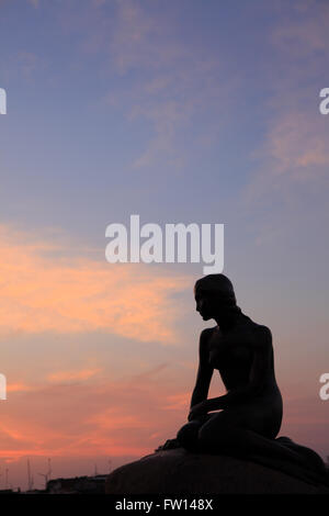
[[[280,435],[329,455],[328,34],[324,0],[0,0],[0,487],[27,459],[36,487],[48,458],[107,472],[186,422],[203,267],[109,263],[132,214],[225,225]]]

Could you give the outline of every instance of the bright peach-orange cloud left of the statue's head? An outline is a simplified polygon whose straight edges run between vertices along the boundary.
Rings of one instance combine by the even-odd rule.
[[[0,332],[107,330],[141,341],[175,341],[170,296],[191,287],[143,263],[64,258],[60,246],[0,226]],[[52,256],[52,253],[54,256]]]

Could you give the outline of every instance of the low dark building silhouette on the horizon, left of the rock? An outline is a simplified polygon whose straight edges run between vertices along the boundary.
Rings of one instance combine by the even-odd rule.
[[[48,494],[103,494],[107,475],[54,479],[47,482]]]

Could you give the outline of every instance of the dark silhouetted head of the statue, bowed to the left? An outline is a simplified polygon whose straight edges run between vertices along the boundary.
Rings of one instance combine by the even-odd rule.
[[[196,311],[204,321],[239,310],[234,287],[224,274],[208,274],[197,280],[194,296]]]

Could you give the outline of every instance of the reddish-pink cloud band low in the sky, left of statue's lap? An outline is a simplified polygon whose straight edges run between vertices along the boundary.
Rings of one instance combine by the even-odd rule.
[[[0,424],[2,457],[151,452],[172,437],[178,417],[183,424],[188,411],[162,369],[156,366],[144,375],[116,381],[94,375],[71,384],[56,373],[55,383],[49,375],[42,384],[13,391]],[[168,410],[172,402],[175,410]]]

